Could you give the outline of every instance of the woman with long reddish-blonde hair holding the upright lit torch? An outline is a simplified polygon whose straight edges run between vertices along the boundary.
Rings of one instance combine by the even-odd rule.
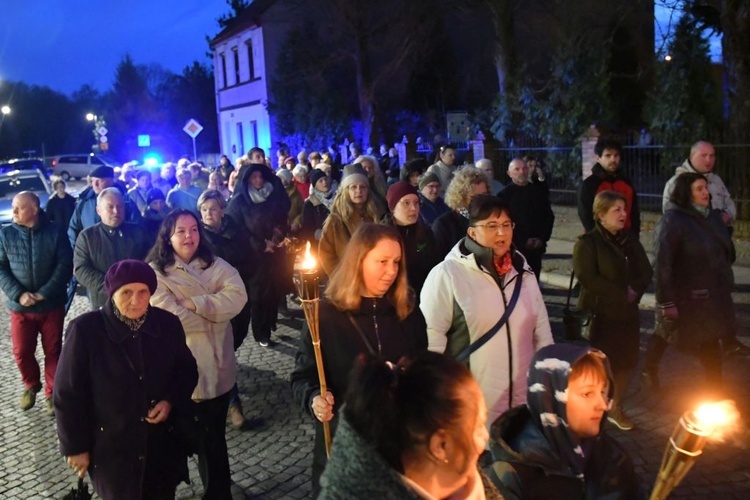
[[[312,340],[303,331],[292,373],[295,399],[315,418],[313,496],[326,464],[322,422],[335,431],[349,376],[360,354],[397,362],[427,348],[424,317],[407,283],[398,230],[362,224],[352,236],[320,303],[320,339],[328,391],[320,394]],[[335,397],[335,398],[334,398]]]

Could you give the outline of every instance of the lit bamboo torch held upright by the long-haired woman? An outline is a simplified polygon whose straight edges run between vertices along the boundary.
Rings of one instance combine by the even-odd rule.
[[[307,328],[310,330],[313,351],[315,352],[315,364],[318,367],[318,383],[320,394],[325,397],[327,392],[326,375],[323,369],[323,354],[320,350],[320,276],[318,274],[317,262],[310,253],[310,242],[305,247],[305,255],[297,268],[294,276],[294,284],[297,286],[297,295],[302,302],[302,310],[305,312]],[[331,455],[331,427],[328,422],[323,422],[323,436],[326,443],[326,455]]]

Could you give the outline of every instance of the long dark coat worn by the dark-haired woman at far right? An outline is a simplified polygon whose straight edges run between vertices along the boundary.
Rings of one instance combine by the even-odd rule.
[[[734,246],[721,213],[670,205],[657,227],[656,300],[677,306],[676,346],[691,349],[734,328]]]

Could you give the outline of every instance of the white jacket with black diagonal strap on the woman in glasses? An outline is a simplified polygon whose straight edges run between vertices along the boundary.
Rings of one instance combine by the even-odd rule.
[[[489,260],[478,249],[489,252]],[[461,349],[453,344],[466,346],[467,334],[475,342],[498,322],[518,283],[518,269],[523,271],[518,303],[508,322],[469,357],[469,368],[487,403],[489,426],[511,406],[526,403],[531,358],[553,340],[542,293],[523,256],[514,251],[514,269],[500,277],[500,286],[494,269],[480,262],[491,265],[489,249],[469,238],[458,242],[427,276],[420,308],[427,321],[428,349],[455,355]]]

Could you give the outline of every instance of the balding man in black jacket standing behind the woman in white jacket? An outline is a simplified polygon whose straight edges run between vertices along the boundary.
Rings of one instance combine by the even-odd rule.
[[[498,195],[510,207],[513,221],[513,243],[526,257],[539,280],[542,272],[542,256],[547,242],[552,237],[555,214],[549,204],[549,194],[538,184],[529,182],[529,166],[521,158],[514,158],[508,165],[508,177],[512,181]]]

